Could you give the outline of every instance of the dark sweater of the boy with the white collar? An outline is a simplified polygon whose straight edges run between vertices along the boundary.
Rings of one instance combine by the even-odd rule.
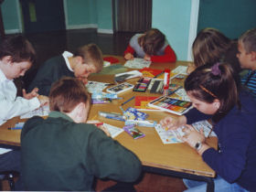
[[[74,72],[69,70],[66,61],[62,55],[48,59],[37,71],[37,75],[34,80],[29,84],[27,92],[32,91],[34,88],[38,88],[40,95],[48,96],[52,83],[60,78],[75,77]]]

